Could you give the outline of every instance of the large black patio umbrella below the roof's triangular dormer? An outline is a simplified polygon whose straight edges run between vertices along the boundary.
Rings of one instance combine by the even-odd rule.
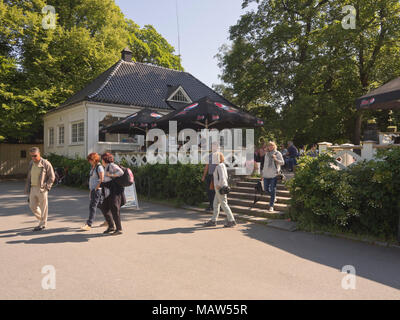
[[[238,108],[204,97],[182,109],[175,110],[156,121],[157,128],[168,131],[169,121],[177,121],[178,131],[186,128],[229,129],[254,128],[264,121]]]

